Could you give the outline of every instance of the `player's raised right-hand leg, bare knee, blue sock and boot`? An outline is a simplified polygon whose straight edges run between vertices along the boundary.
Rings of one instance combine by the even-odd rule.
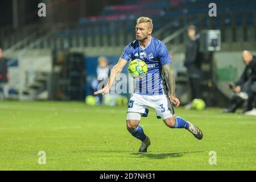
[[[203,133],[202,131],[199,129],[199,127],[196,127],[195,125],[193,125],[192,123],[185,121],[185,119],[181,118],[181,117],[169,117],[163,120],[164,123],[172,128],[172,129],[186,129],[188,131],[190,131],[197,139],[201,140],[203,138]]]

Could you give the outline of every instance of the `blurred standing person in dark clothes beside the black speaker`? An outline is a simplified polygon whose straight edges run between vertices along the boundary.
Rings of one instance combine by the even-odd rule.
[[[200,35],[196,32],[196,26],[188,27],[189,42],[186,47],[184,66],[187,68],[188,81],[191,88],[191,101],[185,106],[191,108],[191,102],[195,98],[200,98],[200,77],[201,77],[201,53],[199,51]]]

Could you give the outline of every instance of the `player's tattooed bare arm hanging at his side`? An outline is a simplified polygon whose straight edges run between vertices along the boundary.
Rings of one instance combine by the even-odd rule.
[[[170,97],[170,101],[178,107],[180,105],[180,101],[175,96],[175,78],[170,63],[163,66],[163,73],[169,88],[168,96]]]

